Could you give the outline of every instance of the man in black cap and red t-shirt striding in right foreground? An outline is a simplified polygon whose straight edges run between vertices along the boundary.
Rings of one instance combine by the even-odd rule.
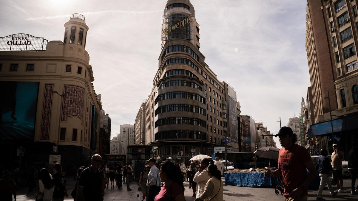
[[[284,183],[285,201],[306,201],[307,186],[316,177],[316,168],[311,160],[307,149],[295,144],[297,136],[292,132],[290,127],[280,128],[280,144],[283,147],[279,152],[279,167],[272,171],[269,169],[265,172],[267,177],[282,176]],[[306,168],[309,174],[306,173]]]

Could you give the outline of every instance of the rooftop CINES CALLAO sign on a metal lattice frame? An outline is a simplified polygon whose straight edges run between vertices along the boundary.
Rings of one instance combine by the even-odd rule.
[[[47,40],[30,34],[13,34],[0,37],[0,50],[45,51]]]

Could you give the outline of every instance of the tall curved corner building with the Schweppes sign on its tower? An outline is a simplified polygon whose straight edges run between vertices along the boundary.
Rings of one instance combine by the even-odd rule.
[[[154,147],[153,155],[160,160],[187,162],[193,155],[212,155],[214,146],[224,146],[227,84],[205,64],[199,30],[189,0],[167,1],[159,68],[145,103],[145,143]]]

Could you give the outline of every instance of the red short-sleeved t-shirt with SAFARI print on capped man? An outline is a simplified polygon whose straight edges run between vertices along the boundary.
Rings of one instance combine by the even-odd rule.
[[[279,167],[284,182],[284,196],[290,196],[295,188],[301,187],[306,180],[307,172],[304,163],[312,161],[306,148],[293,144],[289,149],[282,148],[279,151]],[[307,188],[301,195],[307,195]]]

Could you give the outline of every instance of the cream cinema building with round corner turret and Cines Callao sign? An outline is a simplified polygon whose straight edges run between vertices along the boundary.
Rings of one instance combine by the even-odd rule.
[[[18,148],[25,149],[23,161],[48,163],[58,145],[61,162],[69,165],[104,153],[87,31],[84,16],[72,14],[63,41],[29,34],[0,38],[0,147],[9,164],[18,159]]]

